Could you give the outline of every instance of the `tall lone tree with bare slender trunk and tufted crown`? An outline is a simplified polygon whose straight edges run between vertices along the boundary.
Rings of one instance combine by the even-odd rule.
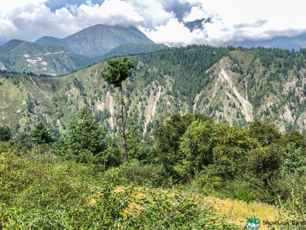
[[[101,76],[108,83],[115,87],[119,87],[120,91],[120,123],[121,123],[121,138],[122,138],[122,150],[123,150],[123,159],[125,162],[128,161],[128,152],[126,148],[126,108],[122,96],[122,82],[132,75],[135,64],[129,60],[127,57],[123,59],[108,59],[107,60],[107,71],[101,71]]]

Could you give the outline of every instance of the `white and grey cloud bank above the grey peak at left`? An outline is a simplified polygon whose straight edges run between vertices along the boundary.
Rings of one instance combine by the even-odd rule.
[[[55,12],[45,2],[47,0],[29,0],[15,8],[10,3],[1,2],[0,28],[5,29],[3,34],[9,33],[6,36],[0,34],[0,41],[13,38],[34,41],[41,36],[62,38],[99,23],[137,26],[144,21],[131,3],[121,0],[106,0],[102,4],[86,1],[80,6],[66,5]]]

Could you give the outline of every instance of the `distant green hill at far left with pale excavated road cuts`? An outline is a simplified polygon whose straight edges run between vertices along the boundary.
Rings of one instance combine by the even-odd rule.
[[[58,75],[90,62],[58,45],[11,40],[0,46],[0,69]]]

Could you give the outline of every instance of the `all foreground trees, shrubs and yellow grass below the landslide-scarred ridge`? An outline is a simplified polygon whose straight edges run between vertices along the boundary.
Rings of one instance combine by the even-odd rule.
[[[84,108],[62,137],[43,122],[13,140],[0,127],[0,226],[241,229],[247,218],[303,220],[305,137],[248,126],[174,114],[151,140],[130,129],[128,163],[118,137],[104,138]]]

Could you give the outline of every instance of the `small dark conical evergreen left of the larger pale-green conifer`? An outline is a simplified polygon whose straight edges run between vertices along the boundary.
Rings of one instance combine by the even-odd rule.
[[[32,144],[50,144],[54,141],[50,129],[42,122],[38,122],[30,132],[30,143]]]

